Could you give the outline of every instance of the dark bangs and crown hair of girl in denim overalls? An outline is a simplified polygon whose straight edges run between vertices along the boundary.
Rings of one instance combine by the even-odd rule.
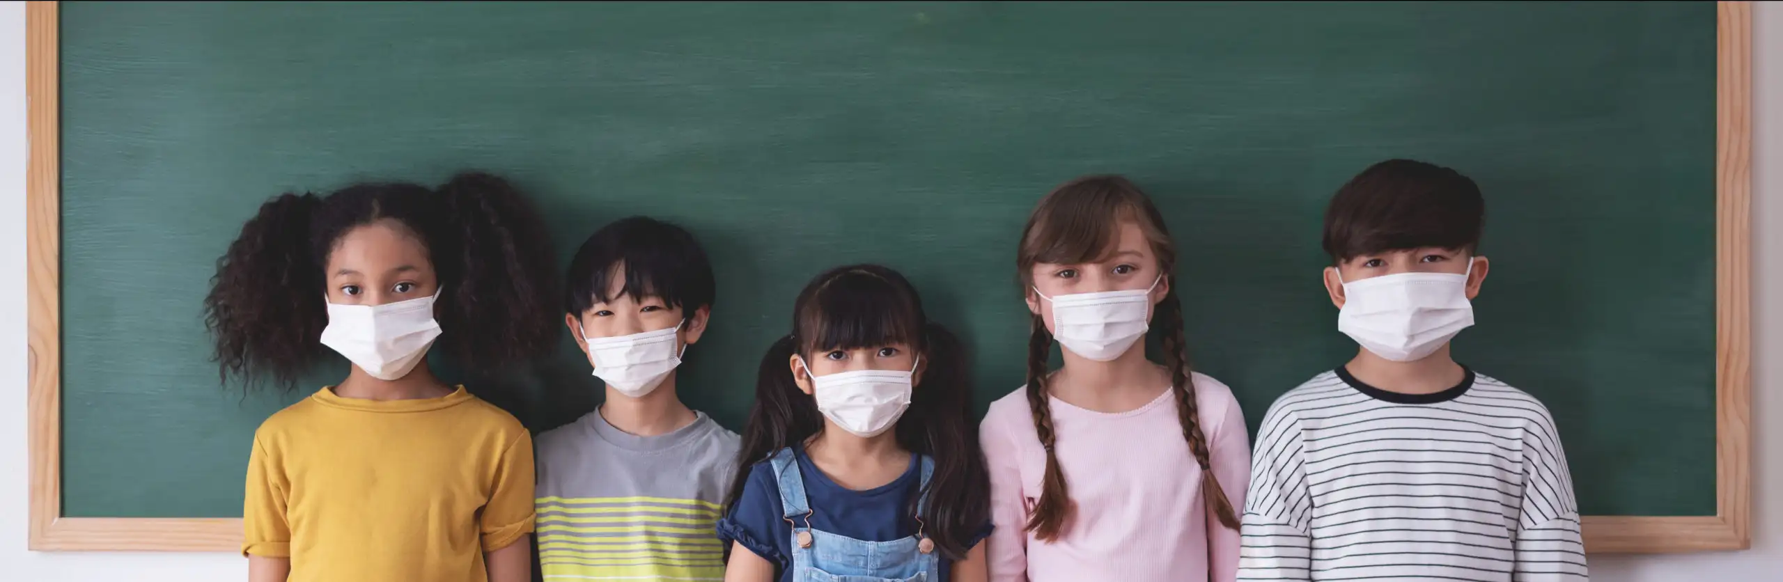
[[[916,345],[922,306],[895,283],[849,271],[818,288],[797,315],[801,352]]]

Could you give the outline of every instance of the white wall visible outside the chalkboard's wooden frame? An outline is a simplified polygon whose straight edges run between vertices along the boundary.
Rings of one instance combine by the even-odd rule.
[[[1754,9],[1753,548],[1701,555],[1592,555],[1598,580],[1783,580],[1783,9]],[[1771,37],[1767,32],[1778,32]],[[1778,55],[1779,59],[1767,59]],[[1772,162],[1778,162],[1772,166]],[[1779,169],[1779,171],[1769,171]],[[25,2],[0,4],[0,578],[242,580],[232,554],[34,554],[25,456]],[[1769,427],[1767,427],[1769,425]]]

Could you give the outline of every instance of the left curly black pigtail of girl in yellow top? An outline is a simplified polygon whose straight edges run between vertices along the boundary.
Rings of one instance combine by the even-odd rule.
[[[269,379],[292,390],[321,358],[328,310],[321,267],[310,253],[316,194],[282,194],[260,205],[218,258],[205,295],[205,327],[216,342],[218,379],[250,388]]]

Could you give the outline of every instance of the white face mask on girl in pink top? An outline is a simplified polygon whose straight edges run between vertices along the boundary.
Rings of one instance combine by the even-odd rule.
[[[1146,288],[1057,297],[1047,297],[1036,287],[1034,295],[1052,303],[1052,336],[1059,345],[1088,360],[1109,361],[1150,329],[1152,290],[1163,279],[1157,276]]]

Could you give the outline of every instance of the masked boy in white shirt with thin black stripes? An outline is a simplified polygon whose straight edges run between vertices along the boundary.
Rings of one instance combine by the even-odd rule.
[[[1483,215],[1473,180],[1412,160],[1332,196],[1325,290],[1362,349],[1264,416],[1241,577],[1587,578],[1548,409],[1450,358],[1489,267]]]

